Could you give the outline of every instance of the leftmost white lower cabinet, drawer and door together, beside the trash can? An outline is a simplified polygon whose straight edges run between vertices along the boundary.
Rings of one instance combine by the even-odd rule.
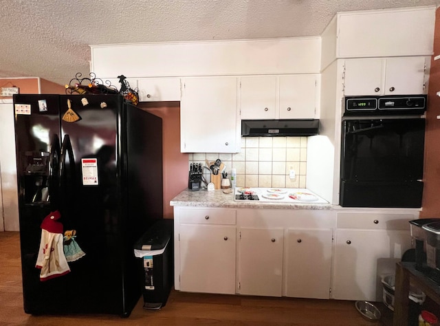
[[[235,293],[236,210],[174,208],[175,290]]]

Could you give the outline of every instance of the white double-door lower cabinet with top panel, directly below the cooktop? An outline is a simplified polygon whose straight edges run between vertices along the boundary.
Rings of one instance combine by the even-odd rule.
[[[329,298],[331,210],[237,210],[237,293]]]

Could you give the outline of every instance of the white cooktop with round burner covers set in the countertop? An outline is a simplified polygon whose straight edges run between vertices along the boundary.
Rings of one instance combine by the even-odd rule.
[[[307,188],[247,188],[236,187],[236,202],[273,202],[292,204],[329,204]]]

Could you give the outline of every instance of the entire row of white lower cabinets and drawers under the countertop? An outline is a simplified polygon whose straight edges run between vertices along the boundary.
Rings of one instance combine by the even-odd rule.
[[[174,208],[175,289],[382,301],[416,209]]]

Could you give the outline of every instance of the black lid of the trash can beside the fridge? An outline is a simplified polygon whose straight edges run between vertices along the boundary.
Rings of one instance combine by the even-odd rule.
[[[159,219],[144,232],[135,243],[137,250],[160,250],[165,248],[166,243],[173,235],[173,219]]]

